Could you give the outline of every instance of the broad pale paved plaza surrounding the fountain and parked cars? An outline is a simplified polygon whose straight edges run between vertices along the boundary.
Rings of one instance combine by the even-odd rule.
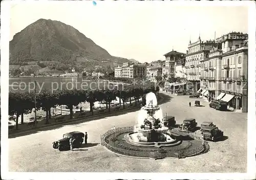
[[[203,99],[189,99],[162,92],[160,107],[163,114],[175,116],[177,123],[184,118],[195,118],[200,126],[212,121],[225,138],[209,142],[205,154],[185,159],[135,159],[114,154],[100,145],[100,134],[115,127],[133,126],[138,111],[111,116],[52,130],[42,130],[9,139],[9,171],[28,172],[246,172],[247,113],[219,111],[210,108]],[[202,107],[189,107],[200,100]],[[88,132],[88,145],[74,151],[59,151],[52,142],[69,131]]]

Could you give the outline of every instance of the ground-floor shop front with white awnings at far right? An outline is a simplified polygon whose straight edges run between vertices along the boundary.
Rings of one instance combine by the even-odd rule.
[[[246,108],[243,108],[244,98],[241,93],[221,90],[221,94],[217,97],[217,99],[227,102],[230,109],[247,111]]]

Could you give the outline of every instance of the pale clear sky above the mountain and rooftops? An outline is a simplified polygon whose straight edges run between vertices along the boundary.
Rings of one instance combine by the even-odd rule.
[[[246,6],[162,1],[96,3],[13,3],[10,40],[36,20],[52,19],[73,26],[112,56],[151,62],[164,60],[163,55],[172,50],[186,53],[189,39],[197,41],[199,35],[204,41],[214,39],[215,32],[216,38],[232,31],[248,33]]]

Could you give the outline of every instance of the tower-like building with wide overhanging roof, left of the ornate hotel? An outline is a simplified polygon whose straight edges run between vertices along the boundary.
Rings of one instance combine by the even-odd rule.
[[[165,74],[168,78],[174,78],[175,77],[175,62],[179,59],[182,59],[184,53],[180,53],[177,51],[171,51],[166,54],[165,56]]]

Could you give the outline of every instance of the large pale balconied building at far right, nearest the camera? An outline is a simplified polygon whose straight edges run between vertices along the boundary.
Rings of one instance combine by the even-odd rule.
[[[201,60],[201,88],[203,96],[226,101],[229,108],[247,112],[248,35],[232,32],[216,42]],[[201,89],[200,89],[201,90]]]

